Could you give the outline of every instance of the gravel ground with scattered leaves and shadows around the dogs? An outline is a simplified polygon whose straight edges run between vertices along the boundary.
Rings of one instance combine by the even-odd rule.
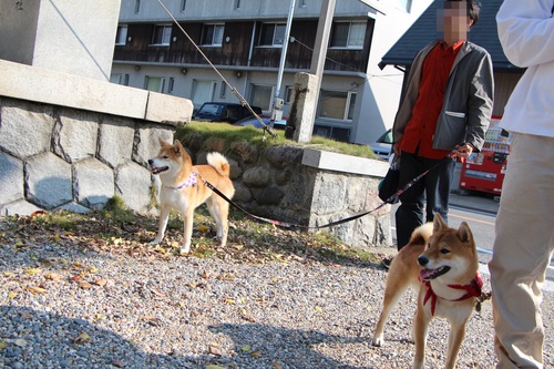
[[[386,277],[377,263],[328,263],[298,253],[274,260],[161,258],[63,239],[39,239],[0,218],[2,368],[411,365],[413,293],[393,311],[386,345],[371,346]],[[554,367],[553,295],[545,294],[543,303],[546,368]],[[428,368],[442,367],[447,335],[445,321],[434,320]],[[459,368],[493,366],[485,301],[468,324]]]

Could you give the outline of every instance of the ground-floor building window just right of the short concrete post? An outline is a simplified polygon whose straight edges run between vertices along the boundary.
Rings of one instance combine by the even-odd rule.
[[[318,117],[351,121],[356,105],[356,92],[321,90],[318,105]]]

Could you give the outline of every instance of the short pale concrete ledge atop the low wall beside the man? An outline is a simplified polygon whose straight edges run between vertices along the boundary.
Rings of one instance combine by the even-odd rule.
[[[320,170],[384,177],[389,163],[314,148],[305,148],[302,164]]]

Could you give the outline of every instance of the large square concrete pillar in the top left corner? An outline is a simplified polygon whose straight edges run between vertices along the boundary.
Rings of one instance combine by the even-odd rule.
[[[121,0],[0,1],[0,59],[110,81]]]

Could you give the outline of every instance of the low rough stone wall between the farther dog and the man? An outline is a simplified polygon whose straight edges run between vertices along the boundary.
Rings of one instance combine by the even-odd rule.
[[[204,164],[209,148],[201,135],[184,137],[193,162]],[[233,201],[252,214],[265,218],[300,224],[304,227],[327,225],[377,208],[381,201],[377,185],[387,163],[326,153],[335,170],[325,163],[312,164],[315,151],[298,146],[268,146],[236,143],[225,155],[235,185]],[[345,162],[351,172],[337,168]],[[356,164],[365,170],[375,166],[376,175],[356,174]],[[306,229],[306,228],[304,228]],[[329,229],[346,244],[357,247],[390,246],[390,205]]]

